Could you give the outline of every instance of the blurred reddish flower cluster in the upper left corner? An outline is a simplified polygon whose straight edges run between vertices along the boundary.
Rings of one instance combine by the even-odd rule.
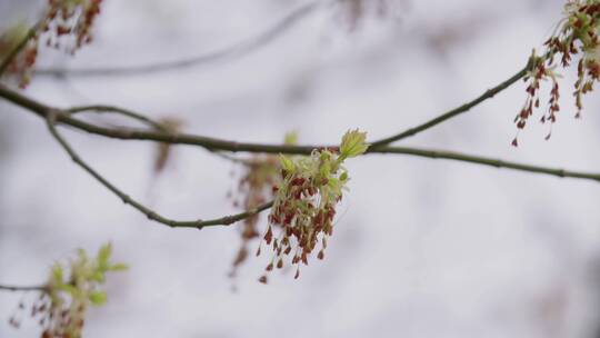
[[[102,0],[48,0],[48,7],[34,27],[33,34],[29,36],[22,29],[20,34],[7,34],[6,39],[10,38],[12,46],[28,39],[8,68],[9,74],[19,78],[19,87],[24,88],[31,81],[40,41],[71,54],[92,41],[91,29],[100,13],[101,2]]]

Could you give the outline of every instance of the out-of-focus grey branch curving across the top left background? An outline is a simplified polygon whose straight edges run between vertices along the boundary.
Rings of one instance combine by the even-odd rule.
[[[312,13],[317,8],[322,4],[323,3],[321,3],[320,1],[304,4],[296,9],[294,11],[282,18],[280,21],[278,21],[276,24],[273,24],[271,28],[267,29],[266,31],[259,33],[256,37],[252,37],[246,41],[236,43],[233,46],[229,46],[223,49],[192,57],[189,59],[132,67],[107,67],[96,69],[38,69],[36,70],[36,74],[53,77],[138,76],[189,68],[226,59],[239,59],[268,44],[269,42],[278,38],[280,34],[289,30],[291,27],[293,27],[293,24],[299,22],[302,18]]]

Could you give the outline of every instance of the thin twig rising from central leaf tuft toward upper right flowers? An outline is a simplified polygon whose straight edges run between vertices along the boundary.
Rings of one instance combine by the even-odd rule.
[[[399,141],[399,140],[402,140],[402,139],[406,139],[408,137],[411,137],[411,136],[414,136],[421,131],[424,131],[431,127],[434,127],[446,120],[449,120],[451,118],[454,118],[461,113],[464,113],[467,111],[469,111],[471,108],[476,107],[477,105],[486,101],[487,99],[491,99],[493,98],[497,93],[499,93],[500,91],[509,88],[511,84],[513,84],[514,82],[519,81],[520,79],[522,79],[526,74],[527,74],[527,71],[529,70],[530,68],[530,64],[531,62],[528,62],[528,64],[519,70],[516,74],[513,74],[512,77],[510,77],[508,80],[501,82],[500,84],[491,88],[491,89],[488,89],[486,90],[486,92],[483,92],[482,95],[480,95],[479,97],[477,97],[474,100],[470,101],[470,102],[467,102],[460,107],[457,107],[452,110],[449,110],[422,125],[419,125],[417,127],[412,127],[412,128],[409,128],[400,133],[397,133],[397,135],[393,135],[393,136],[390,136],[390,137],[387,137],[384,139],[380,139],[380,140],[377,140],[374,142],[371,142],[371,149],[378,149],[380,148],[381,146],[386,146],[386,145],[389,145],[391,142],[394,142],[394,141]]]

